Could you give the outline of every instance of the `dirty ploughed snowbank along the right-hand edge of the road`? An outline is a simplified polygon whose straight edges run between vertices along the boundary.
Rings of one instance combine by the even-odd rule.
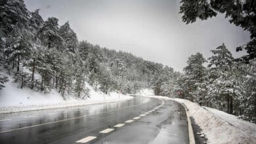
[[[217,109],[200,107],[186,99],[174,100],[186,105],[188,115],[202,128],[208,143],[256,143],[256,124]]]

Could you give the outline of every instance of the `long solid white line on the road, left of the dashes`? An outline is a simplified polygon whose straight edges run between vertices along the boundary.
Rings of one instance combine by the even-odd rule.
[[[138,104],[138,105],[142,105],[142,103]],[[131,105],[131,106],[128,106],[128,107],[122,107],[120,109],[127,109],[129,107],[135,107],[137,105]],[[114,109],[112,111],[106,111],[104,113],[110,113],[110,112],[113,112],[113,111],[117,111],[117,110],[120,110],[120,109]],[[98,114],[103,114],[103,113],[96,113],[96,114],[92,114],[92,115],[98,115]],[[36,126],[43,126],[43,125],[47,125],[47,124],[54,124],[54,123],[58,123],[58,122],[64,122],[64,121],[68,121],[68,120],[74,120],[74,119],[77,119],[77,118],[85,118],[85,117],[89,117],[89,116],[92,116],[92,115],[84,115],[84,116],[81,116],[81,117],[74,117],[74,118],[68,118],[68,119],[65,119],[65,120],[58,120],[58,121],[54,121],[54,122],[47,122],[47,123],[43,123],[43,124],[35,124],[33,126],[26,126],[26,127],[22,127],[22,128],[16,128],[16,129],[12,129],[12,130],[5,130],[5,131],[2,131],[0,132],[0,134],[2,133],[5,133],[5,132],[12,132],[14,130],[23,130],[23,129],[26,129],[26,128],[33,128],[33,127],[36,127]]]

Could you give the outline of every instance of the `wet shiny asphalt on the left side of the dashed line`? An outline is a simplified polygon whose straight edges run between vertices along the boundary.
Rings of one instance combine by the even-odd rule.
[[[86,135],[148,111],[160,102],[137,97],[115,103],[0,115],[1,120],[10,119],[0,122],[0,143],[50,143],[66,137],[68,141],[62,143],[75,143]]]

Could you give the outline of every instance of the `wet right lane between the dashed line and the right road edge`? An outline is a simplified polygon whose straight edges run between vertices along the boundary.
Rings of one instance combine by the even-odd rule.
[[[180,103],[165,101],[165,104],[151,115],[116,130],[95,143],[189,143],[185,109]]]

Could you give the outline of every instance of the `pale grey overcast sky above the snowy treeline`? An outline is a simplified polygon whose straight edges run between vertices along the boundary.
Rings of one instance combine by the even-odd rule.
[[[40,9],[44,20],[69,21],[79,41],[131,52],[146,60],[182,71],[191,54],[205,58],[222,43],[234,54],[249,41],[249,33],[229,24],[223,15],[184,24],[179,1],[173,0],[25,0],[29,10]]]

